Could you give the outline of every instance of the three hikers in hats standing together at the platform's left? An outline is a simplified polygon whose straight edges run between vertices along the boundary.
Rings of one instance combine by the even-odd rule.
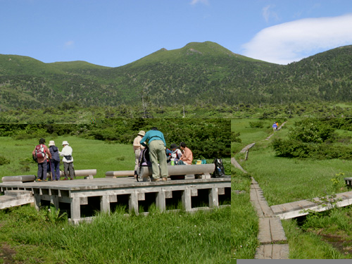
[[[32,156],[38,163],[37,181],[46,182],[46,173],[51,172],[51,180],[60,180],[60,156],[63,157],[63,170],[65,178],[63,180],[73,180],[75,170],[73,169],[73,149],[69,146],[67,141],[63,141],[63,149],[58,151],[55,142],[49,142],[49,148],[45,145],[45,139],[39,139],[39,144],[35,146],[32,151]]]

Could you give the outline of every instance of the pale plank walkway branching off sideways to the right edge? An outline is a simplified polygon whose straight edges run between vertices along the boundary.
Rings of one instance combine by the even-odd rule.
[[[328,199],[328,197],[327,197]],[[313,201],[310,201],[313,200]],[[271,206],[272,211],[280,219],[297,218],[299,216],[308,215],[308,209],[315,212],[322,212],[332,208],[335,203],[337,207],[350,206],[352,204],[352,191],[346,191],[337,194],[334,199],[328,203],[321,201],[318,197],[314,199],[306,199],[302,201],[294,201],[292,203],[283,203],[277,206]]]

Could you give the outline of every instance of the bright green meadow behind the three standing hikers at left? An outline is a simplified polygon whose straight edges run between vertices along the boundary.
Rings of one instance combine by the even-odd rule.
[[[54,140],[59,151],[62,142],[68,141],[73,148],[73,164],[75,170],[96,169],[96,177],[105,177],[110,170],[134,170],[134,152],[132,144],[108,144],[95,139],[80,137],[47,137],[46,146]],[[12,175],[37,175],[37,163],[32,161],[32,151],[39,139],[13,139],[0,137],[0,156],[8,157],[11,163],[1,165],[0,177]],[[63,163],[60,164],[63,170]]]

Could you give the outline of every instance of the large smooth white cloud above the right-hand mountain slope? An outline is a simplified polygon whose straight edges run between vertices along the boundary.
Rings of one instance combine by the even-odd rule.
[[[352,14],[306,18],[267,27],[243,45],[244,56],[287,64],[337,46],[352,44]]]

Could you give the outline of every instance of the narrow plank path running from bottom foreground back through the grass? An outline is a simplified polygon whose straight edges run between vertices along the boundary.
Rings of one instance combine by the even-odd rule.
[[[231,163],[247,173],[234,158]],[[289,257],[289,244],[284,234],[281,220],[275,216],[263,196],[258,182],[251,177],[250,200],[259,218],[258,241],[260,246],[256,250],[255,259],[287,259]]]

